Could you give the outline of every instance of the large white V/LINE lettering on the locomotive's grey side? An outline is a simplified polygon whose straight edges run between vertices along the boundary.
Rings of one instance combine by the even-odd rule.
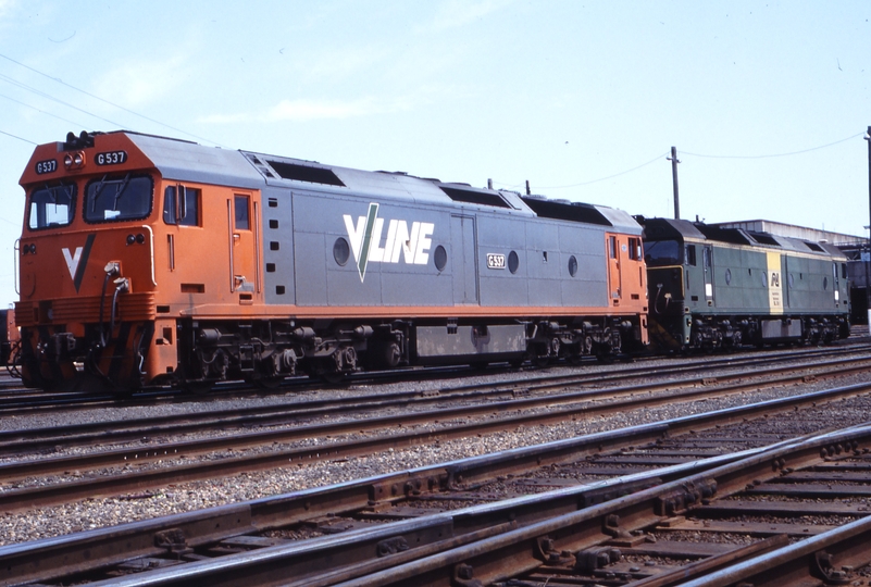
[[[425,265],[430,261],[430,238],[435,229],[431,222],[391,220],[387,225],[387,237],[382,239],[384,218],[378,217],[378,204],[370,203],[365,216],[358,216],[357,225],[350,214],[345,214],[345,229],[351,245],[357,271],[362,283],[369,263],[399,263],[400,257],[409,265]]]

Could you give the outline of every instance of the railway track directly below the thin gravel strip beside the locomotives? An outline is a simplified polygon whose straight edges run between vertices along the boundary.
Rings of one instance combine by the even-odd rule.
[[[751,377],[777,376],[795,373],[797,370],[820,371],[819,376],[832,376],[847,373],[869,361],[864,349],[851,350],[846,354],[859,354],[856,358],[819,361],[825,357],[843,355],[844,352],[832,350],[813,353],[799,353],[804,361],[818,360],[813,364],[784,366],[783,355],[775,358],[749,358],[744,360],[708,361],[705,364],[679,364],[658,369],[651,373],[644,367],[630,367],[615,373],[582,373],[544,375],[527,378],[500,379],[494,383],[464,386],[443,387],[428,391],[389,391],[363,396],[331,397],[326,399],[301,400],[293,403],[276,403],[225,410],[184,412],[145,419],[125,419],[123,421],[100,421],[50,428],[26,428],[0,432],[0,454],[43,451],[64,446],[82,447],[89,444],[107,445],[125,440],[140,440],[166,434],[187,434],[207,429],[224,429],[227,427],[251,427],[269,425],[288,425],[309,422],[321,416],[345,416],[359,414],[361,410],[386,410],[389,408],[428,409],[436,404],[486,402],[505,400],[535,394],[548,392],[547,399],[531,398],[519,400],[514,405],[536,407],[537,404],[560,403],[578,400],[597,400],[602,397],[619,397],[634,392],[649,392],[658,389],[679,389],[699,385],[714,385],[730,380],[743,380]],[[789,355],[795,357],[795,355]],[[773,365],[773,366],[772,366]],[[717,372],[716,369],[723,369]],[[735,371],[743,369],[745,371]],[[676,378],[687,373],[704,372],[702,377]],[[643,385],[630,386],[629,383],[644,380]],[[656,385],[655,382],[661,382]],[[623,387],[609,388],[604,391],[582,391],[571,394],[575,386],[584,389],[604,385],[622,384]],[[505,405],[496,409],[503,411]],[[473,409],[469,409],[471,413]],[[11,415],[11,414],[5,414]],[[450,414],[447,414],[450,415]]]

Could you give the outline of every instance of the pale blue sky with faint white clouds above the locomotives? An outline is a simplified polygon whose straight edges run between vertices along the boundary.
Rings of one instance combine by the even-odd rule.
[[[0,304],[28,141],[82,129],[647,216],[672,215],[673,145],[683,217],[867,234],[870,20],[860,0],[0,0]]]

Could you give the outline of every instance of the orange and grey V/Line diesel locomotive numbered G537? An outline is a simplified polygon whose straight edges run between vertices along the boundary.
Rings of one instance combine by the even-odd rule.
[[[642,227],[612,208],[132,132],[38,146],[21,185],[28,386],[271,386],[648,342]]]

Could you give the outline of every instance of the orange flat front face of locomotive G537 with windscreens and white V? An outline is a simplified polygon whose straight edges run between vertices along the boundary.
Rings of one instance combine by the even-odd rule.
[[[28,386],[138,387],[153,333],[155,176],[130,168],[130,149],[97,152],[94,139],[41,146],[22,176],[15,319]]]

